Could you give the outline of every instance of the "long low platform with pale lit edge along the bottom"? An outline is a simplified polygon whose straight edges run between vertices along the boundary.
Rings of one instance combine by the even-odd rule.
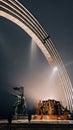
[[[7,120],[0,120],[0,130],[10,130]],[[13,120],[11,130],[73,130],[73,120]]]

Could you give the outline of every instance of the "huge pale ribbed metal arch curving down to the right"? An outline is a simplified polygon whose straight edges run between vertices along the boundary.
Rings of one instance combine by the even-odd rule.
[[[73,110],[73,88],[64,64],[48,34],[18,0],[0,0],[0,15],[20,26],[38,45],[49,64],[58,67],[57,88],[62,104]]]

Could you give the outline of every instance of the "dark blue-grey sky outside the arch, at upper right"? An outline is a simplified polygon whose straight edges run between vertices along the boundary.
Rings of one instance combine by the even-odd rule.
[[[19,0],[50,34],[73,84],[73,0]]]

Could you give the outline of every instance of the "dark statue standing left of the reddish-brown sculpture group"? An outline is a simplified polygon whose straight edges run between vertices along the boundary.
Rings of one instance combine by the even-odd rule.
[[[27,114],[26,111],[26,101],[24,97],[24,87],[14,87],[13,88],[15,91],[17,91],[19,94],[14,95],[17,97],[17,101],[14,104],[14,115],[17,117],[19,115],[23,116]]]

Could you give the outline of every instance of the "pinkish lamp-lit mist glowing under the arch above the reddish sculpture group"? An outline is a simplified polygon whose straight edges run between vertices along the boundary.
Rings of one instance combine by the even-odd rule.
[[[38,50],[36,43],[31,39],[30,76],[28,75],[26,80],[26,94],[35,101],[48,99],[59,100],[58,90],[55,83],[56,74],[47,63],[42,52]]]

